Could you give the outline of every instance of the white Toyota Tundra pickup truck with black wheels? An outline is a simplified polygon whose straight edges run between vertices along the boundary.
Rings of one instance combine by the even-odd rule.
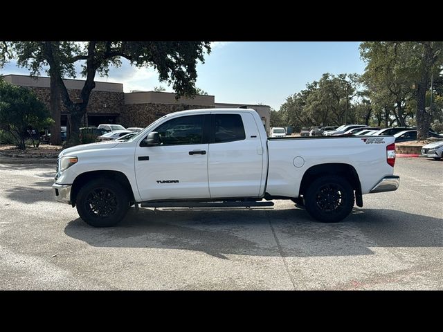
[[[253,109],[170,113],[125,142],[64,149],[53,194],[89,225],[121,221],[130,206],[273,205],[291,199],[336,222],[362,194],[397,190],[392,136],[267,138]]]

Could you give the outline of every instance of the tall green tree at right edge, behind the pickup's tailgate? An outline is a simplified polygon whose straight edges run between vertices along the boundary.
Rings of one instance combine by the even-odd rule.
[[[371,99],[386,108],[386,123],[388,113],[400,125],[415,114],[417,139],[427,138],[432,114],[426,91],[431,73],[437,77],[443,65],[443,42],[364,42],[360,53]]]

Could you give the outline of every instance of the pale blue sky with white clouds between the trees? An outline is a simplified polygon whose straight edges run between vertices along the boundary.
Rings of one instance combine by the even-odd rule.
[[[215,102],[262,103],[280,109],[289,95],[319,80],[323,73],[363,73],[365,64],[360,59],[359,44],[215,42],[211,53],[205,56],[205,63],[197,65],[196,86],[215,95]],[[28,75],[29,72],[10,62],[0,74]],[[96,81],[123,83],[125,92],[152,91],[154,86],[164,86],[167,92],[172,92],[172,87],[159,82],[154,69],[129,66],[125,59],[121,67],[111,68],[109,77],[97,75]]]

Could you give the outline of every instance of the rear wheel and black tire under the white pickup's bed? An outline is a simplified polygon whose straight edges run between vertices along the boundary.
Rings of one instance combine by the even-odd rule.
[[[304,196],[307,212],[323,223],[345,219],[354,207],[354,190],[341,176],[322,176],[308,187]]]

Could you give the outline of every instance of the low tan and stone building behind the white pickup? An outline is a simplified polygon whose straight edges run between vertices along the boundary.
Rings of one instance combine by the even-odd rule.
[[[4,75],[3,80],[10,84],[27,86],[33,89],[42,102],[49,107],[49,77],[30,77],[27,75]],[[71,100],[80,98],[84,80],[65,79]],[[175,99],[175,93],[155,91],[123,92],[123,84],[96,82],[91,92],[86,116],[82,119],[84,127],[97,127],[101,123],[118,123],[124,127],[146,127],[165,114],[186,109],[210,109],[246,106],[255,109],[262,118],[266,132],[269,133],[270,108],[267,105],[226,104],[215,102],[214,95],[196,95],[195,98]],[[62,126],[68,122],[68,111],[62,105]]]

